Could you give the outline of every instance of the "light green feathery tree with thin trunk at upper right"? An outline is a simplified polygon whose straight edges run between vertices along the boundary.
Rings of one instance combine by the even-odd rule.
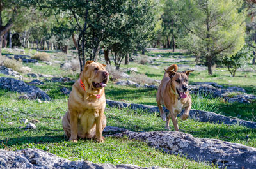
[[[188,35],[180,43],[198,55],[212,75],[212,64],[220,55],[232,55],[244,45],[245,23],[242,1],[186,0],[179,13]]]

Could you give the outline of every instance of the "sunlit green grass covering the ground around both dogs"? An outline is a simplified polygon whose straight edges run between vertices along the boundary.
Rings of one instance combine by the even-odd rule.
[[[54,57],[52,56],[54,54]],[[194,58],[183,58],[189,62],[166,61],[179,53],[170,54],[150,53],[150,58],[159,57],[153,64],[136,64],[131,62],[128,66],[122,68],[137,67],[138,73],[145,73],[150,78],[161,80],[163,77],[163,68],[170,64],[187,64],[195,66]],[[63,57],[56,53],[51,54],[52,58],[63,61]],[[40,62],[43,66],[34,64],[24,64],[29,66],[33,73],[43,73],[55,76],[67,76],[77,79],[78,74],[68,70],[62,70],[60,64],[49,66]],[[152,68],[152,66],[156,66]],[[180,68],[182,70],[182,68]],[[223,70],[223,71],[221,71]],[[2,75],[0,75],[2,76]],[[3,75],[4,76],[4,75]],[[26,75],[24,75],[26,77]],[[26,77],[24,81],[29,82],[33,78]],[[40,78],[42,80],[42,78]],[[190,83],[211,81],[226,87],[236,85],[244,87],[248,93],[256,94],[255,72],[237,72],[237,77],[230,77],[227,69],[216,68],[214,75],[207,75],[206,71],[193,72],[189,77]],[[112,163],[112,164],[134,164],[140,166],[161,166],[166,168],[182,168],[185,164],[188,168],[211,168],[211,164],[198,163],[179,156],[165,154],[162,151],[148,147],[145,143],[131,141],[120,138],[107,138],[105,143],[99,144],[94,140],[79,140],[78,143],[70,143],[65,138],[61,127],[61,117],[67,111],[68,96],[61,94],[61,87],[71,89],[72,83],[53,83],[45,82],[45,85],[38,86],[52,98],[52,101],[39,103],[38,101],[18,100],[20,94],[0,89],[0,148],[1,149],[24,149],[38,148],[52,152],[63,158],[76,160],[84,159],[94,163]],[[156,105],[156,89],[143,87],[120,86],[115,82],[109,82],[106,87],[106,98],[128,103],[142,103],[145,105]],[[214,105],[213,110],[220,114],[240,117],[241,119],[252,120],[255,113],[256,103],[237,104],[225,103],[220,98],[203,99],[200,96],[193,96],[193,107],[200,110],[208,110],[209,105]],[[197,103],[197,104],[195,104]],[[204,105],[204,106],[200,106]],[[129,110],[107,107],[105,111],[108,126],[117,126],[127,128],[131,131],[161,131],[164,130],[164,122],[161,121],[159,114],[150,114],[141,110]],[[26,126],[19,122],[20,119],[37,119],[35,130],[20,129],[20,126]],[[8,124],[12,122],[13,124]],[[172,127],[172,124],[170,125]],[[211,124],[196,122],[192,119],[181,121],[179,119],[180,129],[189,131],[188,133],[199,138],[215,138],[228,142],[242,143],[251,147],[256,146],[255,129],[245,128],[238,125]],[[172,131],[174,129],[172,128]],[[217,166],[213,166],[217,167]]]

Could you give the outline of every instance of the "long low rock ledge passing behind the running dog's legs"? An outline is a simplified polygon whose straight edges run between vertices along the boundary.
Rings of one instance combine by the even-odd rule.
[[[141,109],[147,112],[159,112],[158,107],[150,106],[150,105],[141,105],[141,104],[133,104],[133,103],[124,103],[121,101],[113,101],[106,100],[107,105],[109,107],[116,108],[131,108],[131,109]],[[168,109],[163,107],[164,112],[168,113]],[[178,115],[179,117],[184,113],[184,110]],[[252,121],[244,121],[238,118],[226,117],[225,115],[216,114],[214,112],[207,112],[202,110],[193,110],[191,109],[189,112],[189,118],[194,119],[200,122],[213,122],[213,123],[221,123],[221,124],[240,124],[241,126],[246,126],[247,128],[256,129],[256,122]]]

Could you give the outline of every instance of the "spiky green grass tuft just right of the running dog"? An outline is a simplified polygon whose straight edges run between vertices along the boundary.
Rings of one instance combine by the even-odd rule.
[[[219,112],[218,99],[213,98],[212,94],[204,94],[203,91],[198,91],[192,98],[192,108],[208,112]]]

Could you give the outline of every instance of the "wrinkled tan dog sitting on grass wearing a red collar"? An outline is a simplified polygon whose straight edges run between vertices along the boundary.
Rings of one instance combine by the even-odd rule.
[[[96,138],[104,142],[102,131],[106,126],[104,87],[109,73],[106,65],[87,61],[80,78],[72,86],[68,99],[68,112],[62,119],[65,135],[72,142],[79,138]]]

